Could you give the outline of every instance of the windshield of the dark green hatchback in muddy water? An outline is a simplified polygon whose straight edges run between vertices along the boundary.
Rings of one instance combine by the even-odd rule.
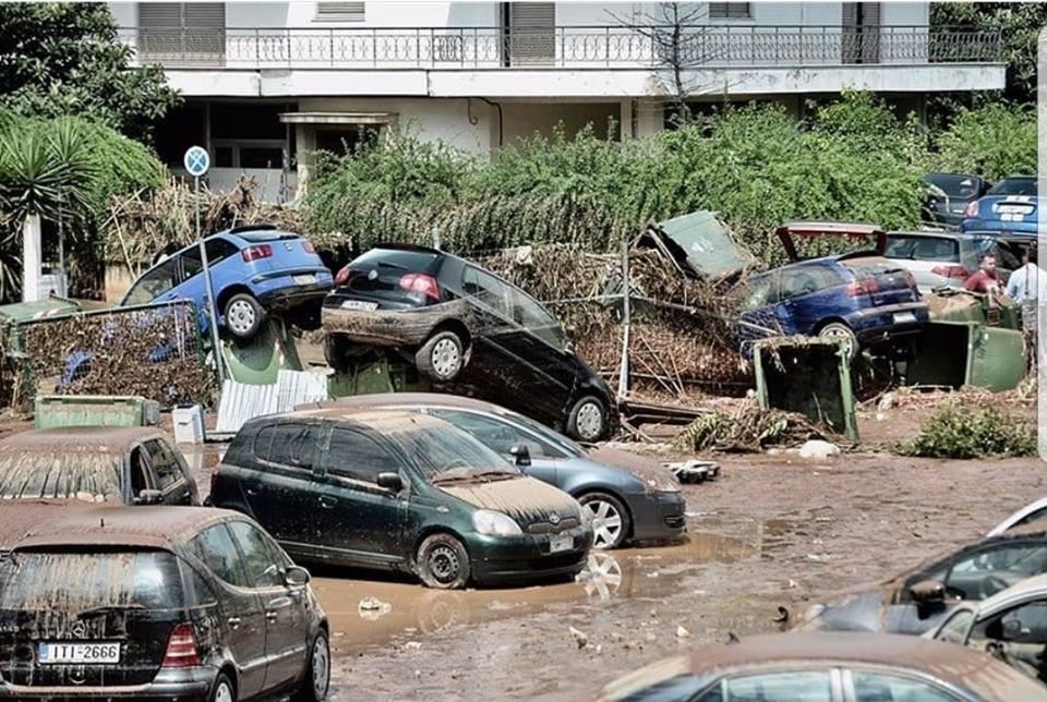
[[[471,480],[504,480],[520,472],[469,434],[446,422],[388,433],[434,485]]]

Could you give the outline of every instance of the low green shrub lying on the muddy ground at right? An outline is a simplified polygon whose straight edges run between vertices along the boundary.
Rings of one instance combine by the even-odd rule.
[[[912,444],[908,456],[980,458],[1035,456],[1036,436],[1016,417],[989,408],[976,410],[949,404],[932,414]]]

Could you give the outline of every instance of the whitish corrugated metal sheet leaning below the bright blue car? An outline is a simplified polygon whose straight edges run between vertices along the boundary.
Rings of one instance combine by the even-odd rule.
[[[270,385],[226,380],[218,402],[216,434],[236,434],[248,420],[289,412],[296,404],[328,399],[327,378],[305,371],[280,371]]]

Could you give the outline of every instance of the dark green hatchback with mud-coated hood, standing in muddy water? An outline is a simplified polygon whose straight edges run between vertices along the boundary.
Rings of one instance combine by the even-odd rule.
[[[244,424],[208,500],[253,516],[294,558],[399,570],[430,588],[574,576],[592,525],[452,424],[320,409]]]

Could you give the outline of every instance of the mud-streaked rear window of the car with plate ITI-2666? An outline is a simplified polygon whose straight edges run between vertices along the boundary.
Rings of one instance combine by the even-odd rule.
[[[0,560],[0,610],[182,606],[178,560],[166,550],[24,552]]]

